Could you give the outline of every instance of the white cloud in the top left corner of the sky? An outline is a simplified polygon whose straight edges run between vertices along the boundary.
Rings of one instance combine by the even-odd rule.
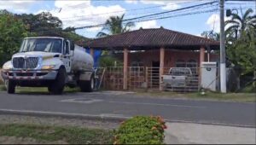
[[[26,1],[0,1],[0,9],[7,9],[15,13],[26,13],[33,3],[37,3],[37,0],[26,0]]]

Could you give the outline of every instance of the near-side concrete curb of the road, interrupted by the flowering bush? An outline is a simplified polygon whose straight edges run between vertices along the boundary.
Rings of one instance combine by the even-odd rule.
[[[44,112],[44,111],[30,111],[30,110],[12,110],[12,109],[0,109],[0,115],[20,115],[20,116],[35,116],[35,117],[59,117],[65,119],[90,119],[90,120],[102,120],[109,122],[120,123],[126,119],[131,119],[127,116],[111,116],[111,115],[93,115],[93,114],[84,114],[84,113],[53,113],[53,112]],[[232,125],[224,123],[213,123],[213,122],[203,122],[203,121],[185,121],[185,120],[170,120],[165,119],[166,122],[170,123],[190,123],[198,125],[222,125],[222,126],[234,126],[234,127],[247,127],[247,128],[256,128],[255,125]]]

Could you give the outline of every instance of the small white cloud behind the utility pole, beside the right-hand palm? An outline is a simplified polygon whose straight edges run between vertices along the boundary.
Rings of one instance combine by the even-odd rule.
[[[224,20],[230,20],[230,18],[224,17]],[[219,29],[220,29],[219,14],[212,14],[207,20],[207,25],[211,30],[214,30],[214,32],[219,32]]]

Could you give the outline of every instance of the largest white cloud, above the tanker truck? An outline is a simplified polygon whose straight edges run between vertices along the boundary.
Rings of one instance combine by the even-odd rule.
[[[55,0],[55,8],[50,13],[62,20],[64,28],[102,24],[110,16],[125,14],[125,9],[119,5],[93,6],[90,1]],[[99,27],[86,29],[89,32],[99,30]]]

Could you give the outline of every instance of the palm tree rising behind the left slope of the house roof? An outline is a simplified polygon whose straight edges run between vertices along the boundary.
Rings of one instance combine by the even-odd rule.
[[[102,28],[102,32],[98,32],[96,35],[97,38],[106,37],[109,35],[119,34],[123,32],[129,32],[130,28],[134,26],[133,22],[125,22],[124,16],[122,14],[119,16],[111,16],[106,22],[105,26]],[[107,33],[106,33],[107,32]]]

